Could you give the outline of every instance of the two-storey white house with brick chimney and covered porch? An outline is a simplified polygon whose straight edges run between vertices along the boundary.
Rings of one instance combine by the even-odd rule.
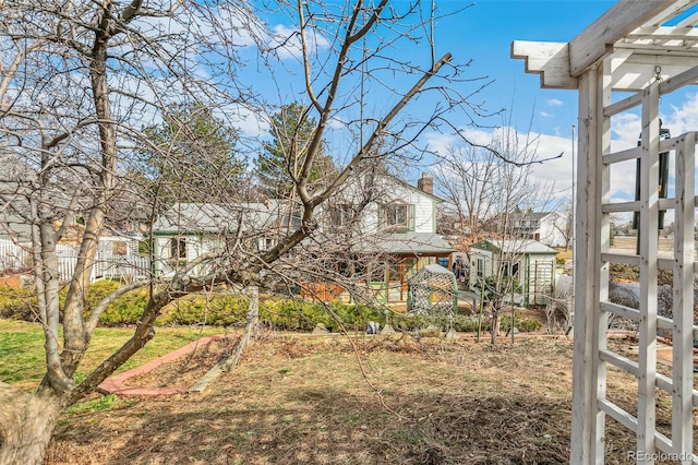
[[[337,273],[352,276],[365,297],[405,309],[412,275],[440,261],[450,270],[454,249],[436,234],[441,202],[426,174],[417,187],[386,174],[352,178],[330,200],[324,222],[326,240],[345,245]],[[302,295],[353,300],[341,286],[318,279],[303,283]]]

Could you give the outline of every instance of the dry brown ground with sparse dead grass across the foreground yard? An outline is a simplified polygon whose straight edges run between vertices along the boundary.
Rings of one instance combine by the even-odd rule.
[[[633,357],[635,342],[613,344]],[[214,363],[215,350],[229,347],[190,361]],[[140,382],[177,379],[182,361]],[[633,379],[609,370],[609,398],[633,414],[635,392]],[[562,464],[570,405],[565,337],[496,346],[359,337],[352,346],[267,336],[203,393],[65,414],[47,464]],[[612,419],[605,445],[606,464],[635,463],[634,434]]]

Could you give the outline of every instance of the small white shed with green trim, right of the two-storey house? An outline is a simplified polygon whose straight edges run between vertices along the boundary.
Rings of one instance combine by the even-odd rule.
[[[489,276],[516,278],[521,291],[514,301],[544,305],[553,294],[557,251],[532,239],[486,239],[470,246],[470,287]]]

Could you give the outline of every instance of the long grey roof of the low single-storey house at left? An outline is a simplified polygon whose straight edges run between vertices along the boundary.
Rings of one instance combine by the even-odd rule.
[[[265,231],[288,226],[286,202],[243,203],[176,203],[154,224],[156,235],[221,234],[243,230]]]

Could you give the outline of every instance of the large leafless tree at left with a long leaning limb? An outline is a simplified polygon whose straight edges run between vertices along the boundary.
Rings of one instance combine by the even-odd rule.
[[[2,180],[0,208],[31,226],[47,367],[32,394],[0,384],[0,463],[41,463],[60,413],[92,393],[154,336],[154,322],[167,303],[221,283],[264,284],[263,271],[292,282],[293,275],[284,272],[293,269],[291,252],[302,249],[317,231],[317,213],[366,159],[414,158],[424,151],[420,134],[447,121],[448,111],[477,116],[453,87],[457,76],[467,75],[465,70],[452,62],[450,53],[434,55],[433,28],[424,27],[434,19],[432,4],[266,2],[294,25],[287,36],[268,33],[260,20],[262,12],[253,7],[188,0],[0,3],[0,150],[2,157],[24,167],[23,176]],[[394,53],[420,34],[426,35],[431,46],[421,64],[416,64],[414,57],[408,60]],[[264,115],[274,115],[288,103],[282,95],[280,102],[255,95],[253,82],[258,76],[245,81],[238,67],[245,50],[239,44],[256,44],[258,68],[272,81],[278,76],[279,95],[286,92],[290,68],[303,81],[305,106],[300,118],[313,120],[315,127],[303,144],[303,156],[293,156],[302,159],[301,166],[289,176],[298,200],[296,220],[282,225],[277,241],[265,250],[250,246],[263,231],[221,228],[226,247],[177,266],[169,276],[151,275],[124,286],[95,308],[86,308],[99,238],[112,223],[113,205],[123,202],[124,192],[148,205],[152,220],[171,206],[163,204],[170,198],[163,195],[165,184],[148,179],[152,174],[141,171],[133,155],[146,146],[168,165],[177,147],[154,144],[141,128],[167,120],[169,109],[182,103],[264,126],[264,120],[272,121]],[[289,57],[292,65],[285,61]],[[394,75],[406,80],[384,79]],[[371,115],[364,105],[370,92],[385,103]],[[428,92],[438,98],[423,98]],[[412,100],[420,103],[419,117],[401,118]],[[330,179],[312,183],[330,123],[360,138],[346,150],[345,163]],[[185,130],[185,126],[176,127]],[[246,144],[260,146],[255,140]],[[375,150],[378,144],[381,151]],[[244,144],[239,141],[239,145]],[[206,151],[200,152],[197,144],[189,144],[188,150],[192,157],[206,159]],[[186,188],[213,190],[215,182],[215,177],[198,177]],[[237,201],[245,198],[239,194]],[[240,208],[238,225],[243,215]],[[64,283],[57,243],[76,217],[84,219],[79,260],[65,283],[67,297],[60,301]],[[148,286],[151,296],[133,336],[76,383],[74,374],[101,313],[119,296],[143,286]]]

